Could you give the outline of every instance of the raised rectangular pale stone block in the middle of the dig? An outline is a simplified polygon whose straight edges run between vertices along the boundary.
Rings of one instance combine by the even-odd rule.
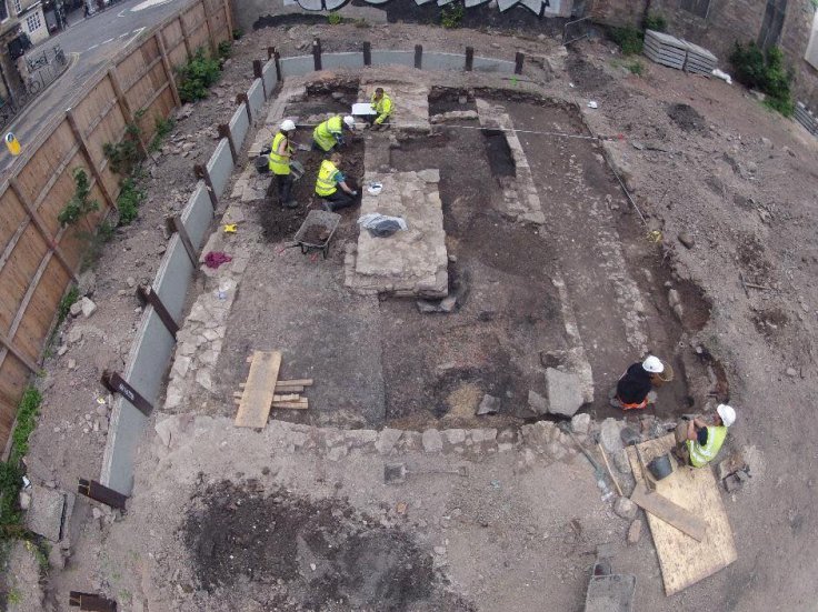
[[[449,274],[440,173],[368,172],[365,183],[372,181],[382,183],[383,190],[370,195],[365,189],[361,214],[401,217],[409,229],[388,238],[373,238],[361,229],[356,252],[347,257],[346,285],[361,294],[445,298]]]

